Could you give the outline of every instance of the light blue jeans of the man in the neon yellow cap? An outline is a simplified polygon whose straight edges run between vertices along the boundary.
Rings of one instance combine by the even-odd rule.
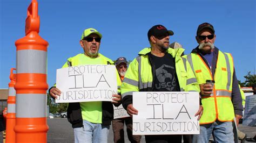
[[[73,128],[75,142],[106,142],[109,134],[109,125],[91,123],[83,120],[83,127]]]

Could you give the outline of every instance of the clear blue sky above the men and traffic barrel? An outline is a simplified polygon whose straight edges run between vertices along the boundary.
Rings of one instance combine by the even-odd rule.
[[[10,68],[16,67],[15,41],[25,35],[26,9],[31,1],[0,0],[0,88],[8,88]],[[56,80],[56,69],[66,59],[83,53],[79,39],[85,28],[94,27],[103,34],[100,53],[112,60],[136,58],[149,47],[147,31],[162,24],[174,32],[170,42],[180,42],[185,54],[198,44],[199,24],[211,23],[217,46],[234,58],[238,80],[247,71],[255,71],[254,0],[232,1],[53,1],[39,0],[40,33],[49,42],[48,84]]]

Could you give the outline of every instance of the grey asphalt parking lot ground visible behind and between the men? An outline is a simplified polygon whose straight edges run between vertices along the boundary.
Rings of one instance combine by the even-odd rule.
[[[59,142],[74,142],[73,129],[71,124],[66,118],[53,118],[48,119],[49,130],[47,133],[47,140],[50,143],[59,143]],[[248,137],[253,137],[256,134],[256,127],[252,126],[242,126],[239,124],[239,130],[246,133]],[[110,127],[108,142],[113,142],[113,130]],[[0,142],[2,142],[2,134],[0,135]],[[127,134],[125,131],[125,142],[129,142]],[[142,137],[142,141],[145,142],[145,138]],[[247,141],[246,141],[247,142]]]

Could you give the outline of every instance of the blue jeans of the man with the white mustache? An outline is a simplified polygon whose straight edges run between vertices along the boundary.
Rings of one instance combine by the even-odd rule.
[[[211,134],[217,143],[234,142],[232,122],[216,120],[211,124],[200,125],[200,134],[193,135],[193,143],[209,142]]]

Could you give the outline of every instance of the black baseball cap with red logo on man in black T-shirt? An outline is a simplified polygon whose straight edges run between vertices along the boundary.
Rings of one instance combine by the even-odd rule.
[[[147,32],[147,38],[149,39],[150,41],[150,37],[153,35],[153,36],[156,36],[156,37],[160,37],[162,35],[165,35],[165,34],[169,34],[169,35],[173,35],[173,31],[171,30],[167,30],[165,28],[165,26],[163,25],[154,25],[153,27],[150,28],[149,32]]]

